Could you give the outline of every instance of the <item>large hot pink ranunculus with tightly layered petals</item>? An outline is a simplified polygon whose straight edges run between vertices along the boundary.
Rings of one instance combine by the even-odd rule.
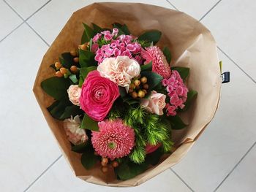
[[[83,82],[80,107],[93,120],[101,121],[108,115],[113,102],[118,98],[118,85],[92,71]]]

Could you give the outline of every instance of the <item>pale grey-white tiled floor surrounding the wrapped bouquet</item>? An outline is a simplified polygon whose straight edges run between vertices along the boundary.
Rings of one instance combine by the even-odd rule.
[[[121,189],[84,183],[72,174],[31,89],[42,55],[69,16],[92,2],[0,0],[0,191],[256,191],[253,0],[132,0],[200,20],[216,38],[231,82],[222,85],[210,126],[172,169]]]

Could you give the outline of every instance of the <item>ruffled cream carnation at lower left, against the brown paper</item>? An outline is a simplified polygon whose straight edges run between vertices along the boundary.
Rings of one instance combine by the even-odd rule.
[[[78,115],[75,118],[69,118],[64,120],[64,130],[70,142],[74,145],[79,145],[88,140],[86,131],[80,128],[80,118]]]

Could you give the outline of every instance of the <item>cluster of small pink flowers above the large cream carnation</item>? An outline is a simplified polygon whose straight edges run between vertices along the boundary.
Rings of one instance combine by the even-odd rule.
[[[98,64],[102,63],[105,58],[116,58],[117,56],[128,56],[141,64],[143,59],[139,54],[142,47],[138,42],[135,42],[135,37],[124,34],[117,37],[117,34],[118,29],[113,28],[112,33],[110,31],[102,31],[92,39],[93,45],[91,49],[96,53],[95,60],[98,61]],[[100,47],[99,42],[101,41],[105,41],[107,44]]]

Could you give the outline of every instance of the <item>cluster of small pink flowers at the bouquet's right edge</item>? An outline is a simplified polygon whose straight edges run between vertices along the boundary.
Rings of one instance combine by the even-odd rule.
[[[167,115],[176,115],[176,110],[178,107],[183,109],[185,107],[184,103],[187,101],[187,92],[189,91],[187,86],[184,85],[180,74],[173,70],[169,79],[162,80],[162,85],[166,87],[168,96],[170,97],[170,102],[166,104]]]

